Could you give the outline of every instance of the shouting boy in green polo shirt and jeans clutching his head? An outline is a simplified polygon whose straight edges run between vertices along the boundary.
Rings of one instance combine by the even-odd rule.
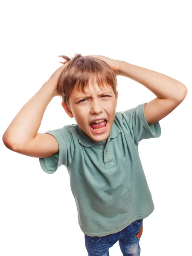
[[[154,210],[138,154],[140,140],[160,137],[159,120],[185,98],[187,89],[163,74],[101,55],[77,54],[23,106],[3,134],[11,150],[38,157],[42,169],[64,164],[89,256],[108,256],[119,241],[124,256],[140,255],[143,218]],[[126,76],[157,98],[116,113],[116,76]],[[62,96],[77,124],[38,133],[47,105]]]

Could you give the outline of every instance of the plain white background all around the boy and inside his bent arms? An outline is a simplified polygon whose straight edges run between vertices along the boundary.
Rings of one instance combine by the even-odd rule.
[[[160,121],[158,139],[143,140],[140,158],[154,201],[143,221],[141,256],[190,254],[191,243],[191,70],[190,1],[4,1],[0,24],[0,134],[23,105],[61,66],[58,55],[104,55],[182,82],[184,101]],[[116,111],[156,96],[118,76]],[[76,123],[49,103],[39,132]],[[43,172],[38,158],[0,141],[0,255],[88,255],[67,169]],[[117,242],[110,256],[122,255]]]

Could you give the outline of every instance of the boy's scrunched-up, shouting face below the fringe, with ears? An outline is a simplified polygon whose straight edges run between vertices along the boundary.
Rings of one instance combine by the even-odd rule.
[[[70,117],[76,119],[79,127],[92,140],[107,140],[113,120],[115,118],[115,109],[117,104],[118,92],[116,97],[111,86],[105,84],[102,90],[93,82],[89,82],[89,87],[85,93],[77,90],[72,91],[69,98],[69,108],[62,102],[62,106]],[[106,125],[103,130],[96,131],[91,128],[90,123],[94,119],[105,119]],[[105,124],[105,122],[104,122]]]

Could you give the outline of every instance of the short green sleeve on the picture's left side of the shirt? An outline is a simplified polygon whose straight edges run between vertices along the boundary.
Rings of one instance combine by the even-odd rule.
[[[43,171],[52,174],[56,172],[61,165],[69,168],[75,151],[73,136],[70,133],[70,130],[64,126],[61,129],[46,131],[45,133],[55,137],[59,146],[59,154],[55,154],[51,157],[39,158]]]

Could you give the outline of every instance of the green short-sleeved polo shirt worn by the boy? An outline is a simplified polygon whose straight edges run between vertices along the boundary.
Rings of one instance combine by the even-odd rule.
[[[87,236],[117,233],[154,210],[140,161],[140,140],[160,137],[159,122],[148,125],[144,104],[117,112],[108,141],[96,142],[79,125],[47,131],[59,154],[40,158],[44,172],[64,165],[76,201],[79,226]]]

